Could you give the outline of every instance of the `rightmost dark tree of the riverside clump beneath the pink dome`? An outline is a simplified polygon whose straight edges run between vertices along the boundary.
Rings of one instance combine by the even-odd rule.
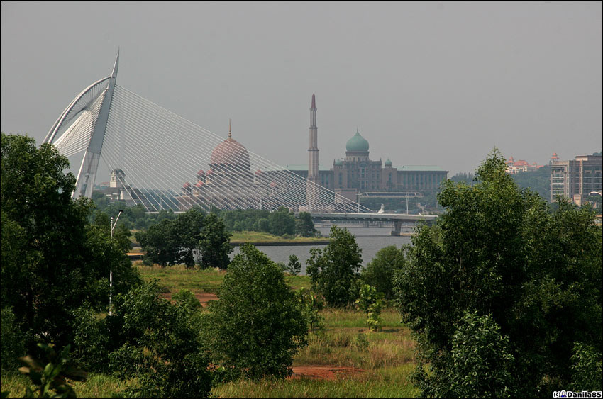
[[[199,239],[199,257],[201,268],[218,267],[226,269],[230,259],[228,254],[233,252],[231,235],[228,234],[224,223],[216,213],[206,216]]]

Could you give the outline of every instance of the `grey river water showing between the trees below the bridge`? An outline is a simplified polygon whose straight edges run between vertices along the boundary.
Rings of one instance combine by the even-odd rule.
[[[363,250],[363,266],[366,266],[375,254],[388,245],[396,245],[400,247],[402,244],[408,244],[410,237],[395,237],[389,235],[392,227],[345,227],[356,237],[358,247]],[[317,227],[323,236],[329,233],[328,227]],[[310,257],[310,248],[324,248],[326,245],[292,245],[292,246],[262,246],[258,249],[264,252],[267,257],[274,262],[289,263],[289,255],[297,255],[299,261],[302,262],[302,274],[306,274],[306,260]],[[231,253],[231,259],[235,254],[238,254],[240,247],[235,247]]]

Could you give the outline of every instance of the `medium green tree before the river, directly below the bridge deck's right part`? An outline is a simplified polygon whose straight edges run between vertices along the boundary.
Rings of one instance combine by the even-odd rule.
[[[333,225],[330,237],[326,248],[310,249],[306,274],[327,305],[345,306],[353,303],[358,293],[358,270],[363,262],[363,250],[348,230]]]

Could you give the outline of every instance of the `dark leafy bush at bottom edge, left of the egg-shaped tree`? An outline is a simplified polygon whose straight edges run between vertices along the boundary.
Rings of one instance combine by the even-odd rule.
[[[200,317],[189,301],[159,298],[156,283],[116,298],[121,346],[109,354],[121,378],[138,378],[128,394],[143,398],[199,398],[211,391],[211,373],[201,342]],[[182,297],[184,297],[182,295]]]

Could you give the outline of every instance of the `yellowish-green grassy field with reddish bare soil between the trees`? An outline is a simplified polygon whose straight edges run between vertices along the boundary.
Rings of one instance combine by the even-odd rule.
[[[160,268],[140,263],[135,267],[146,281],[158,279],[165,292],[183,288],[194,293],[214,293],[224,272],[189,270],[184,266]],[[310,287],[308,276],[286,276],[292,288]],[[399,313],[382,313],[382,330],[369,332],[364,313],[351,309],[321,311],[324,330],[309,334],[308,346],[294,359],[296,374],[282,381],[234,381],[221,383],[212,395],[218,398],[414,398],[419,391],[409,382],[414,371],[414,345],[410,331],[400,323]],[[300,370],[304,371],[300,371]],[[307,370],[316,373],[306,373]],[[1,378],[1,390],[9,397],[22,397],[28,379],[18,374]],[[132,383],[132,382],[128,382]],[[119,395],[128,383],[112,376],[93,375],[83,383],[73,382],[80,398]]]

